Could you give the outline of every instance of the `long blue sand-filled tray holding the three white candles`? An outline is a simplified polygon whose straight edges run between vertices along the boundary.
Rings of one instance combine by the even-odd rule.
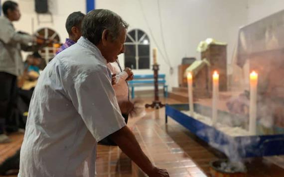
[[[231,137],[223,132],[208,126],[186,114],[182,110],[189,110],[188,104],[167,104],[165,106],[165,121],[168,116],[183,125],[190,132],[198,136],[209,145],[226,154],[228,157],[262,157],[284,155],[284,134],[237,136]],[[205,116],[211,113],[211,108],[200,104],[194,104],[194,111]],[[218,111],[218,115],[230,114]]]

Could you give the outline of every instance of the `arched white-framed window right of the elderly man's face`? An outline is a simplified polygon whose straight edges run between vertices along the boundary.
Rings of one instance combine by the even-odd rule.
[[[144,31],[134,29],[127,33],[124,57],[125,67],[134,70],[150,68],[150,41]]]

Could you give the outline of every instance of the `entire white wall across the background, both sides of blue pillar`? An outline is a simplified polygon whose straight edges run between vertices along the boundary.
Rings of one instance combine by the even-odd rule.
[[[1,0],[3,3],[5,0]],[[32,33],[31,21],[34,19],[34,31],[41,27],[50,27],[59,33],[61,42],[68,37],[65,20],[74,11],[86,12],[86,0],[48,0],[53,14],[53,23],[38,24],[34,12],[34,0],[15,0],[22,13],[20,21],[15,22],[16,29]],[[96,8],[108,8],[120,14],[130,28],[145,31],[150,38],[150,47],[157,47],[143,17],[142,7],[148,24],[158,46],[162,49],[157,0],[96,0]],[[228,63],[231,63],[232,51],[236,45],[240,26],[259,20],[284,8],[283,0],[159,0],[164,40],[173,74],[158,52],[160,73],[167,76],[169,88],[176,87],[177,66],[181,58],[193,56],[200,59],[196,47],[208,37],[228,43]],[[48,20],[48,15],[40,15],[41,20]],[[124,62],[124,56],[120,56]],[[152,62],[152,61],[151,61]],[[136,74],[148,74],[149,70],[136,70]]]

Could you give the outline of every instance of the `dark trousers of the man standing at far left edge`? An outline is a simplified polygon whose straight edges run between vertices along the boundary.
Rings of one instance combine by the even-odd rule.
[[[17,108],[17,77],[0,72],[0,134],[13,127],[13,110]]]

